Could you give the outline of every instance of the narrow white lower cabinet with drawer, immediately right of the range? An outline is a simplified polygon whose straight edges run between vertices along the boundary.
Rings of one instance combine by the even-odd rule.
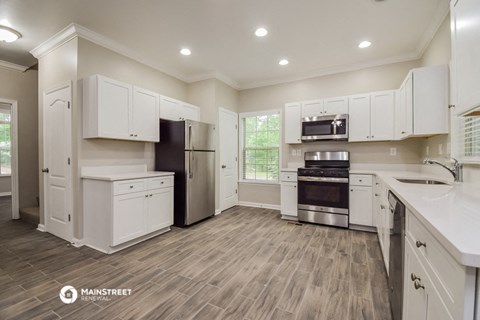
[[[371,175],[350,175],[350,225],[373,227]]]

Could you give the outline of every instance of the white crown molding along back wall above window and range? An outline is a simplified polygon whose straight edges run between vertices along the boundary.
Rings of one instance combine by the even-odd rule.
[[[407,61],[418,60],[418,59],[419,57],[416,53],[410,53],[410,54],[395,56],[395,57],[382,59],[382,60],[367,61],[367,62],[361,62],[361,63],[342,65],[342,66],[321,68],[321,69],[316,69],[316,70],[312,70],[304,73],[299,73],[291,77],[274,78],[274,79],[265,80],[265,81],[251,81],[251,82],[240,83],[239,90],[273,86],[277,84],[329,76],[333,74],[357,71],[357,70],[362,70],[367,68],[380,67],[384,65],[393,64],[393,63],[407,62]]]

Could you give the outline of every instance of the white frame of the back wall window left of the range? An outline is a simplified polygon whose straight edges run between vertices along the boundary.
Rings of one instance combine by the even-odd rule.
[[[245,146],[245,125],[244,119],[249,117],[258,117],[258,116],[268,116],[278,114],[279,117],[279,126],[278,126],[278,181],[268,181],[268,180],[254,180],[254,179],[244,179],[243,178],[243,170],[244,170],[244,158],[243,158],[243,149]],[[239,174],[238,174],[238,182],[239,183],[250,183],[250,184],[267,184],[267,185],[279,185],[280,184],[280,172],[282,168],[282,145],[283,145],[283,113],[282,109],[270,109],[270,110],[263,110],[263,111],[254,111],[254,112],[244,112],[238,115],[239,120]]]

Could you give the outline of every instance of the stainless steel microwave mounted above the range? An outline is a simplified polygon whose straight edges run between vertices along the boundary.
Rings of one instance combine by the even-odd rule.
[[[302,118],[302,141],[348,140],[348,114]]]

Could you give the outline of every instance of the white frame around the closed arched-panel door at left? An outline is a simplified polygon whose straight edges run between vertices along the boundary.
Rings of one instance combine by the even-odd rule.
[[[70,91],[70,130],[69,130],[69,137],[67,137],[67,141],[69,142],[68,143],[68,153],[70,154],[70,159],[71,159],[71,165],[69,166],[69,170],[67,170],[67,180],[68,180],[68,191],[67,191],[67,204],[66,204],[66,207],[68,208],[68,210],[70,211],[70,215],[71,215],[71,221],[70,223],[68,224],[68,239],[64,239],[68,242],[73,242],[73,221],[75,220],[75,214],[73,212],[73,161],[72,161],[72,138],[73,138],[73,119],[72,119],[72,110],[73,110],[73,85],[72,85],[72,81],[66,81],[66,82],[63,82],[63,83],[60,83],[56,86],[53,86],[51,88],[48,88],[46,90],[43,91],[43,94],[42,94],[42,106],[43,106],[43,110],[42,110],[42,125],[43,125],[43,128],[42,128],[42,143],[43,143],[43,156],[42,156],[42,165],[43,167],[45,167],[45,164],[47,163],[47,153],[45,152],[45,142],[46,142],[46,135],[45,135],[45,128],[46,128],[46,116],[45,116],[45,110],[47,109],[46,108],[46,103],[45,103],[45,98],[47,96],[47,94],[51,93],[51,92],[54,92],[54,91],[58,91],[58,90],[61,90],[63,88],[69,88],[69,91]],[[41,210],[41,212],[43,212],[43,226],[39,225],[39,230],[41,231],[44,231],[44,232],[48,232],[48,215],[46,213],[46,204],[47,204],[47,186],[48,186],[48,179],[45,178],[45,175],[43,175],[43,195],[42,195],[42,199],[43,199],[43,205],[42,203],[40,203],[41,207],[43,207],[43,210]]]

